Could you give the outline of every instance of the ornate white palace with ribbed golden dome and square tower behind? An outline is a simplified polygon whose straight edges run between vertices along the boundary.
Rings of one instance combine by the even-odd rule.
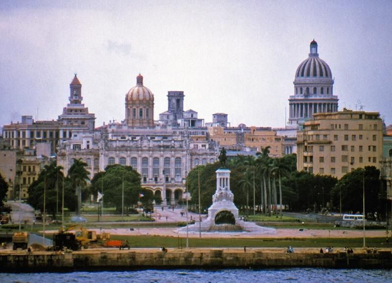
[[[198,164],[214,163],[218,145],[208,141],[207,129],[185,119],[183,92],[169,92],[168,120],[153,121],[154,96],[138,75],[125,94],[125,119],[73,135],[58,147],[57,163],[67,171],[73,160],[87,163],[90,178],[107,165],[129,165],[141,175],[142,186],[161,196],[164,205],[182,200],[184,180]],[[180,113],[181,112],[181,113]],[[192,111],[197,120],[197,112]],[[165,113],[160,117],[166,118]]]

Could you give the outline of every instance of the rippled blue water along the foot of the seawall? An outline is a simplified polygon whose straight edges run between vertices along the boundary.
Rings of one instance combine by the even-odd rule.
[[[0,273],[1,283],[256,283],[256,282],[391,282],[392,270],[384,269],[222,269],[138,270],[67,273]]]

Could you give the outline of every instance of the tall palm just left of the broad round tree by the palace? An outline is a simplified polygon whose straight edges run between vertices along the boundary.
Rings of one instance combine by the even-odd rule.
[[[76,207],[76,214],[80,215],[80,209],[82,207],[82,188],[86,187],[87,180],[89,180],[88,175],[90,174],[85,166],[85,163],[81,158],[75,159],[73,165],[71,165],[70,169],[68,170],[68,177],[71,180],[71,184],[76,189],[77,195],[77,207]]]

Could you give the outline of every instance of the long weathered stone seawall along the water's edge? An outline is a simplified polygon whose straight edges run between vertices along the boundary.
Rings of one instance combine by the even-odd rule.
[[[69,253],[0,254],[0,272],[144,268],[392,268],[392,253],[333,254],[240,251],[233,249],[85,250]]]

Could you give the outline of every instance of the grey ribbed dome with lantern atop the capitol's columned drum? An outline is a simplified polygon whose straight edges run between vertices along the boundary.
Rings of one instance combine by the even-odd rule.
[[[332,72],[328,64],[319,58],[319,53],[317,53],[317,42],[315,40],[310,43],[308,59],[299,64],[295,71],[295,79],[302,78],[332,79]]]

